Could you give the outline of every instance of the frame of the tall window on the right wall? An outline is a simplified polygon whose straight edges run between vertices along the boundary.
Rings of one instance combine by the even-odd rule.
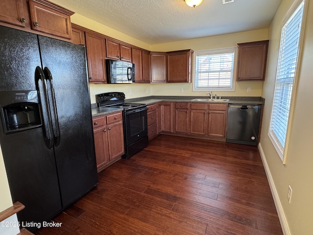
[[[291,90],[291,101],[289,105],[289,116],[287,120],[287,132],[286,132],[286,139],[285,139],[285,146],[282,146],[274,132],[271,130],[271,123],[273,118],[273,107],[274,107],[274,99],[275,99],[275,92],[276,92],[276,86],[277,86],[277,77],[280,71],[280,62],[281,62],[281,47],[282,47],[282,39],[283,39],[283,33],[284,28],[286,24],[289,22],[291,17],[295,15],[295,12],[298,10],[298,7],[304,2],[304,8],[302,13],[302,22],[301,22],[301,29],[300,29],[300,35],[299,35],[299,44],[298,44],[298,53],[297,53],[297,60],[296,60],[296,66],[295,66],[295,72],[293,77],[293,85]],[[277,59],[277,68],[276,68],[276,76],[275,76],[275,88],[274,88],[274,94],[272,99],[272,105],[271,105],[271,114],[269,119],[269,125],[268,125],[268,137],[270,141],[272,142],[276,152],[278,153],[279,158],[281,159],[283,164],[286,164],[286,159],[288,155],[288,146],[290,141],[290,135],[291,135],[291,126],[292,126],[292,117],[294,112],[294,105],[295,105],[295,98],[297,93],[297,84],[298,84],[298,78],[300,73],[300,66],[301,66],[301,60],[302,60],[302,52],[303,52],[303,42],[304,42],[304,33],[305,33],[305,26],[306,26],[306,16],[307,16],[307,9],[308,9],[308,0],[295,0],[293,4],[291,5],[291,8],[288,10],[286,16],[284,17],[282,21],[281,26],[281,37],[280,37],[280,43],[279,43],[279,51],[278,51],[278,59]],[[285,39],[285,38],[284,38]]]

